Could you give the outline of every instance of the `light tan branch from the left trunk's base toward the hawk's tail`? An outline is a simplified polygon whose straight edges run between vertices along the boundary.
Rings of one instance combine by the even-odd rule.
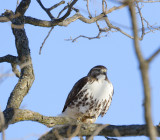
[[[47,127],[64,124],[76,124],[77,122],[76,120],[70,118],[48,117],[30,110],[22,110],[16,108],[8,108],[4,110],[3,113],[5,118],[5,128],[7,128],[9,124],[14,124],[21,121],[35,121],[44,124]],[[0,132],[2,131],[2,128],[3,127],[0,124]]]

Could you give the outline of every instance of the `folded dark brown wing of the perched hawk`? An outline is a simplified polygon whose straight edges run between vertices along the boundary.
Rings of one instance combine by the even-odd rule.
[[[67,97],[67,100],[66,100],[66,103],[64,105],[62,112],[65,111],[67,106],[73,101],[73,99],[77,96],[77,94],[84,87],[84,85],[86,85],[86,83],[89,81],[89,79],[90,78],[86,76],[75,83],[75,85],[73,86],[72,90],[70,91],[70,93]]]

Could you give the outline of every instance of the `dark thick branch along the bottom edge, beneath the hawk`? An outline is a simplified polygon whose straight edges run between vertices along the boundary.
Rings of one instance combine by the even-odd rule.
[[[60,136],[63,138],[68,137],[67,131],[70,129],[71,134],[75,132],[78,125],[63,125],[54,127],[51,131],[44,134],[40,137],[39,140],[57,140],[57,136],[55,135],[56,132],[59,133]],[[81,124],[79,125],[79,133],[78,136],[92,136],[97,129],[102,127],[102,124]],[[72,128],[70,128],[72,127]],[[105,137],[119,137],[116,134],[116,131],[119,133],[120,136],[147,136],[147,126],[146,125],[108,125],[106,126],[98,136],[105,136]],[[157,126],[157,131],[160,134],[160,127]],[[160,135],[159,135],[160,136]]]

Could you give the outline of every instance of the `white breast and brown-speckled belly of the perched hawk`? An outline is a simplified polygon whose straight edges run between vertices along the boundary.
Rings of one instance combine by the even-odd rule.
[[[95,80],[92,83],[88,82],[79,94],[79,111],[97,118],[100,114],[103,116],[110,106],[113,85],[108,80]]]

